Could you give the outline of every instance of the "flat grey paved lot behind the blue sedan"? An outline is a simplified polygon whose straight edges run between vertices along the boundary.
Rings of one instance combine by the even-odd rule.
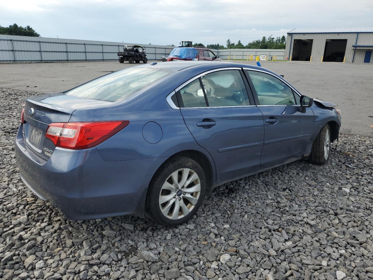
[[[255,62],[236,61],[248,64]],[[162,63],[162,62],[159,62]],[[373,136],[373,65],[369,63],[262,62],[263,67],[310,97],[335,102],[342,110],[343,133]],[[53,93],[132,66],[129,63],[9,63],[0,64],[0,87]]]

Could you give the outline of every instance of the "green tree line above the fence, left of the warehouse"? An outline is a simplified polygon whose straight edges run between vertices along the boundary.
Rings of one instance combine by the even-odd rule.
[[[261,40],[255,40],[247,45],[241,43],[241,40],[238,40],[237,43],[232,42],[231,40],[226,41],[226,45],[220,44],[208,44],[207,48],[215,50],[225,50],[225,49],[285,49],[286,37],[266,37],[263,36]],[[202,43],[195,43],[193,47],[204,47]]]

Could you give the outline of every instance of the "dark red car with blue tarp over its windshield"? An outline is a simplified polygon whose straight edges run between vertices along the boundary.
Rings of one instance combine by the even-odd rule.
[[[205,47],[177,47],[167,57],[167,61],[178,60],[211,60],[223,61],[212,50]]]

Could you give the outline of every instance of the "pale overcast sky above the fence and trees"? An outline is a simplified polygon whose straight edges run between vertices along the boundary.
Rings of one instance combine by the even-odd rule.
[[[175,44],[247,44],[294,28],[373,27],[372,0],[1,0],[0,25],[42,37]]]

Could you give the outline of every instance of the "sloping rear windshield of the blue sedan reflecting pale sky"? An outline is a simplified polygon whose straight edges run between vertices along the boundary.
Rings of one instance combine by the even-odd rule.
[[[66,94],[115,102],[171,73],[172,71],[166,69],[127,68],[79,85]]]

